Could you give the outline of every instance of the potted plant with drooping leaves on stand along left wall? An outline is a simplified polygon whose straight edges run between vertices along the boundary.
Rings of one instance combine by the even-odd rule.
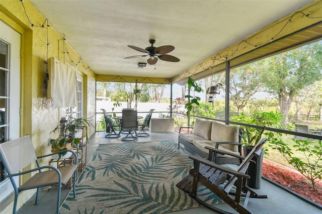
[[[68,158],[69,153],[67,154],[67,150],[70,150],[74,147],[77,148],[81,143],[81,138],[75,137],[77,130],[87,125],[93,126],[88,120],[83,118],[77,118],[77,119],[71,118],[69,122],[67,122],[65,118],[62,118],[59,121],[59,125],[53,131],[50,132],[52,133],[57,130],[60,131],[59,136],[51,142],[51,152],[66,150],[66,152],[62,152],[58,154],[58,159]],[[88,142],[87,129],[86,129],[86,140]]]

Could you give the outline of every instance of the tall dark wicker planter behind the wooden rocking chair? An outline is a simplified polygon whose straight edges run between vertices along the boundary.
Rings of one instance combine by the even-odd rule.
[[[244,149],[244,157],[246,157],[252,151],[253,146],[244,146],[243,149]],[[251,178],[247,180],[247,185],[251,188],[255,188],[255,189],[261,188],[263,158],[264,158],[264,150],[262,150],[261,155],[259,157],[254,156],[252,158],[252,160],[255,161],[256,164],[250,163],[248,167],[247,174],[251,176]]]

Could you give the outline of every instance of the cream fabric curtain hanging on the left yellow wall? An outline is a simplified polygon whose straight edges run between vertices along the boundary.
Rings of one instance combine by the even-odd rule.
[[[47,97],[53,99],[53,107],[77,106],[75,69],[51,57],[48,60],[48,73]]]

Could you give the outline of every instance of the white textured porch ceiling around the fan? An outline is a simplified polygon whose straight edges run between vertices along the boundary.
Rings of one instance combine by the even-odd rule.
[[[95,73],[171,78],[313,1],[30,2]],[[124,59],[141,54],[127,45],[144,49],[149,39],[175,46],[169,54],[180,62],[141,69],[148,57]]]

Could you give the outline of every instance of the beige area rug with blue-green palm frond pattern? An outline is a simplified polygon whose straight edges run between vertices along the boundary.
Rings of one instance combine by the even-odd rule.
[[[201,206],[176,187],[193,165],[174,141],[100,144],[61,213],[165,213]],[[199,197],[222,202],[201,186]]]

